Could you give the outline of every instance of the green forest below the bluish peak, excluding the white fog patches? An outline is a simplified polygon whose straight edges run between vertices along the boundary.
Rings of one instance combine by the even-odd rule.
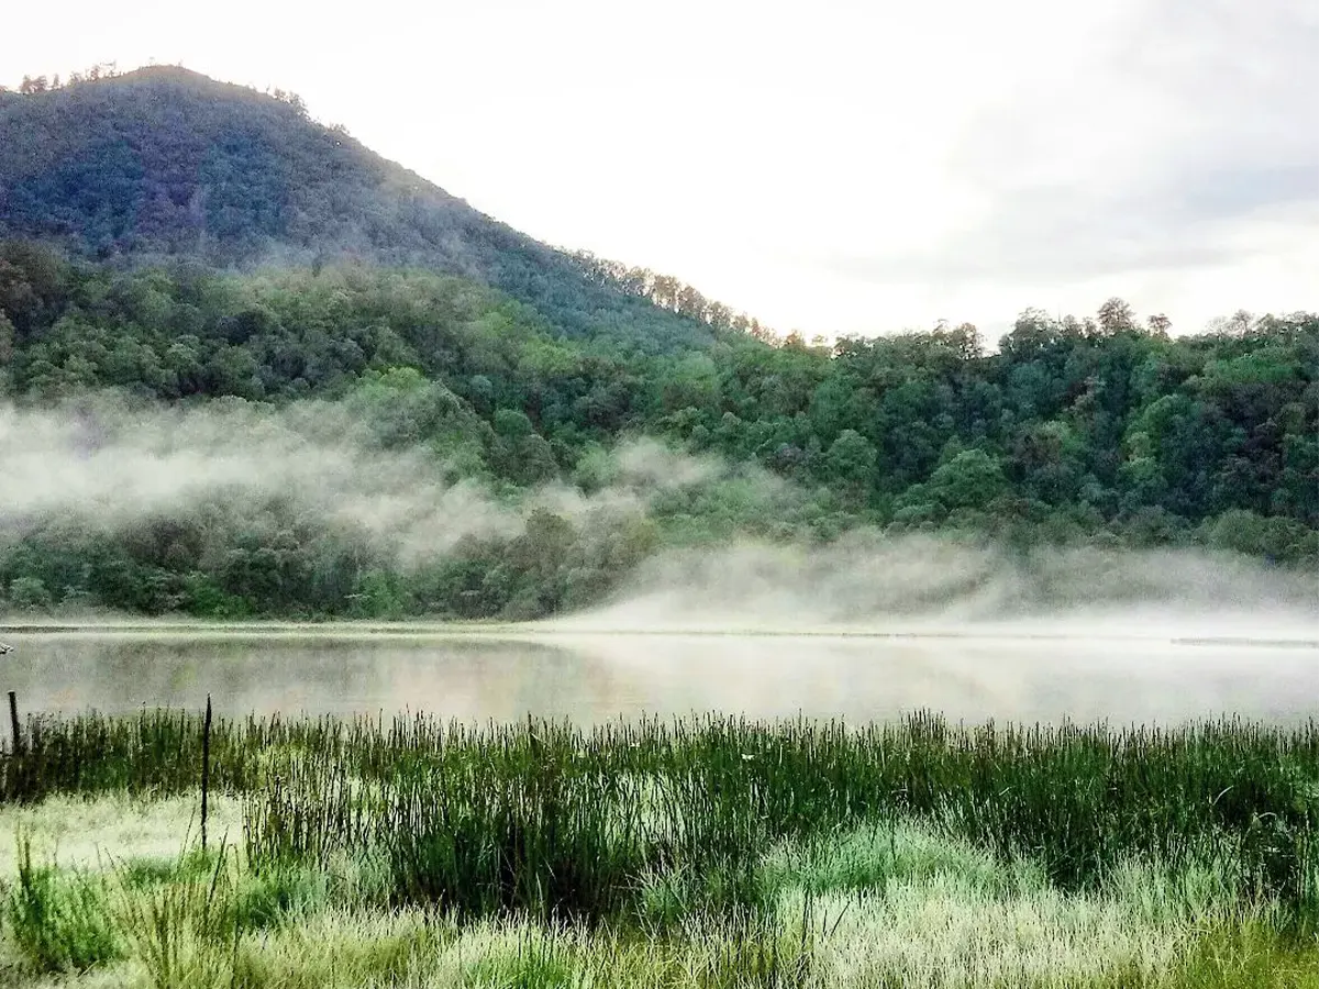
[[[650,435],[777,475],[794,493],[766,494],[743,473],[657,494],[644,524],[546,509],[520,535],[466,542],[425,578],[277,500],[249,517],[231,506],[206,539],[84,538],[42,520],[9,539],[0,583],[24,607],[525,617],[595,600],[675,542],[828,539],[860,525],[1319,564],[1314,315],[1239,314],[1171,336],[1165,319],[1113,299],[1093,318],[1026,311],[996,349],[966,324],[834,347],[727,328],[706,347],[646,353],[566,336],[456,277],[117,270],[7,243],[0,388],[26,406],[102,389],[145,404],[228,397],[270,414],[332,401],[381,447],[423,448],[437,476],[510,500],[550,483],[598,491],[603,451]]]

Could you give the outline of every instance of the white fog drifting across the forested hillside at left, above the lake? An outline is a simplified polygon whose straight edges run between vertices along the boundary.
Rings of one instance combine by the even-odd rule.
[[[590,496],[551,484],[516,497],[454,479],[443,455],[385,448],[343,404],[280,410],[236,400],[135,409],[112,398],[54,410],[0,405],[0,539],[51,522],[115,533],[144,521],[224,505],[297,516],[364,538],[401,568],[434,562],[464,537],[512,538],[547,509],[586,524],[644,514],[646,500],[716,471],[653,442],[620,447]]]

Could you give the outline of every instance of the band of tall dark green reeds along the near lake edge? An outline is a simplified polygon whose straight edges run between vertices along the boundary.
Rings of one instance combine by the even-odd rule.
[[[0,766],[0,799],[197,787],[195,716],[29,728]],[[215,789],[244,796],[255,866],[371,853],[398,905],[595,923],[636,914],[640,890],[670,877],[685,897],[754,910],[776,844],[913,819],[1029,858],[1063,890],[1095,889],[1133,858],[1211,861],[1244,903],[1277,901],[1299,934],[1319,931],[1312,723],[962,728],[922,713],[859,729],[704,717],[587,732],[218,719],[211,752]]]

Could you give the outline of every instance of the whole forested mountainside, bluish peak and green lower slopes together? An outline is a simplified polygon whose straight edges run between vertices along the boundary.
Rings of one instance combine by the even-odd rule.
[[[665,547],[861,527],[1319,566],[1319,316],[1173,335],[1112,299],[993,344],[778,338],[496,224],[295,98],[173,69],[26,88],[0,94],[0,450],[38,414],[88,450],[169,409],[342,421],[517,524],[418,555],[291,491],[113,525],[0,500],[7,609],[534,617]]]

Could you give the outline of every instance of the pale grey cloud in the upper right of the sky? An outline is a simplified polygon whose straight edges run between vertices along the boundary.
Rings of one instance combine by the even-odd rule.
[[[1162,0],[1057,45],[1072,57],[1005,66],[1017,84],[950,156],[980,208],[931,245],[826,265],[1047,284],[1231,264],[1319,225],[1319,12]]]

